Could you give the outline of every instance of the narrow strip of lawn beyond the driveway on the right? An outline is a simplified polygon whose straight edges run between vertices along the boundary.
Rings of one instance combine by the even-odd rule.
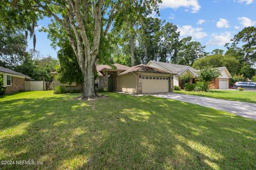
[[[181,94],[188,94],[188,95],[256,103],[256,91],[211,90],[209,92],[204,92],[204,91],[181,90],[181,91],[174,91],[174,92],[178,92]]]

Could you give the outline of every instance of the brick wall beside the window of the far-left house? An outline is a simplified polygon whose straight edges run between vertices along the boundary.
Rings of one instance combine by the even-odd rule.
[[[25,90],[25,78],[17,78],[12,76],[12,86],[5,89],[5,94]]]

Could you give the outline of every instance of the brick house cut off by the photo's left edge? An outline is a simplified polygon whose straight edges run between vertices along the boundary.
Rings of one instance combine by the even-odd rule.
[[[0,76],[4,79],[5,94],[25,90],[25,80],[33,80],[28,75],[0,66]]]

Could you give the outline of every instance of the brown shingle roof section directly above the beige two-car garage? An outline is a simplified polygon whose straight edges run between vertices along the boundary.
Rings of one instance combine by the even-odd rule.
[[[165,71],[165,70],[157,69],[156,67],[148,66],[148,65],[145,65],[145,64],[140,64],[140,65],[130,67],[130,69],[128,69],[128,70],[126,70],[126,71],[124,71],[124,72],[122,72],[118,75],[123,75],[123,74],[127,74],[127,73],[132,73],[132,72],[175,74],[175,73],[170,72],[170,71]]]

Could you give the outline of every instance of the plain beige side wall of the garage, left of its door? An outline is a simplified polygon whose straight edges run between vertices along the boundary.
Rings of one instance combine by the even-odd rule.
[[[137,94],[137,75],[125,74],[118,76],[117,90],[129,94]]]

